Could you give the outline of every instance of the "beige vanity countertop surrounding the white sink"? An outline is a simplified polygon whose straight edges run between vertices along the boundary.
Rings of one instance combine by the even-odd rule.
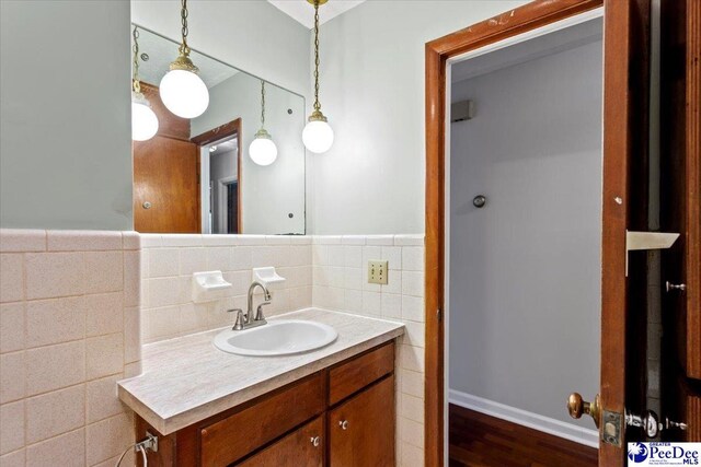
[[[170,434],[404,334],[401,323],[318,308],[269,320],[280,318],[323,323],[338,337],[321,349],[285,357],[222,352],[212,343],[222,329],[150,343],[141,351],[142,373],[118,383],[119,399]]]

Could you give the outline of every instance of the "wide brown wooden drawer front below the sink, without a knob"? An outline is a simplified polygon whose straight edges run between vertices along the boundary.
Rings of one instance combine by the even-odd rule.
[[[202,466],[227,466],[320,415],[324,406],[321,374],[310,376],[200,430]]]

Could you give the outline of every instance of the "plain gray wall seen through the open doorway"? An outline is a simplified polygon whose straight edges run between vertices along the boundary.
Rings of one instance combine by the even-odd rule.
[[[475,117],[451,125],[450,388],[587,428],[564,400],[599,386],[601,61],[598,42],[451,96]]]

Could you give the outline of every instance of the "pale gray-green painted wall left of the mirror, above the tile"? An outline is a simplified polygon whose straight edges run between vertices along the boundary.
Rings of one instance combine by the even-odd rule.
[[[129,3],[0,2],[0,225],[130,230]]]

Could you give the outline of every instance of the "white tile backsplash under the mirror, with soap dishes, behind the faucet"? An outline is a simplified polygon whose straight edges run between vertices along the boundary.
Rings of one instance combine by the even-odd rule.
[[[245,308],[254,267],[274,266],[287,279],[271,287],[267,316],[311,306],[311,242],[309,236],[142,235],[143,342],[233,324],[235,316],[226,311]],[[222,271],[233,287],[216,301],[193,303],[193,272],[210,270]]]

